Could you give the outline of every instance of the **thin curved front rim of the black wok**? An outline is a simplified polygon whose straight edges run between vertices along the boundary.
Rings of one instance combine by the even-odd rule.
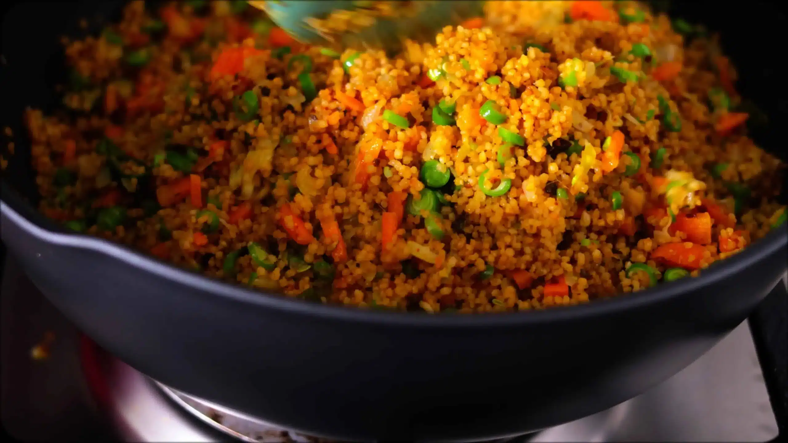
[[[28,212],[30,218],[26,218],[21,214],[22,212]],[[771,229],[771,232],[766,236],[750,244],[744,251],[733,257],[712,263],[698,277],[682,278],[668,283],[661,282],[652,288],[638,291],[636,296],[632,296],[631,293],[619,293],[616,296],[594,300],[591,303],[551,307],[544,310],[434,315],[426,312],[374,311],[359,307],[314,303],[273,292],[247,289],[240,284],[233,285],[214,277],[181,269],[125,244],[87,234],[65,232],[64,228],[59,227],[30,204],[25,203],[20,195],[9,186],[5,177],[2,179],[2,186],[0,186],[0,219],[2,219],[2,224],[13,223],[29,235],[35,236],[47,244],[94,251],[120,260],[127,266],[135,266],[143,272],[174,281],[179,285],[208,292],[211,296],[219,296],[235,303],[251,303],[255,307],[334,321],[429,329],[522,327],[621,314],[625,311],[649,307],[674,297],[691,294],[704,286],[716,283],[729,274],[738,274],[749,266],[755,266],[765,256],[774,254],[780,248],[788,247],[788,229],[786,229],[788,225],[784,225],[779,229]],[[788,269],[788,264],[786,264],[786,269]]]

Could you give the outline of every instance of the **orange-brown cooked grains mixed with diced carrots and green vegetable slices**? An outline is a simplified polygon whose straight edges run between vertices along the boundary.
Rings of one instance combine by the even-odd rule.
[[[586,303],[784,223],[716,39],[637,2],[487,2],[387,57],[246,2],[141,1],[28,110],[40,209],[225,281],[407,311]]]

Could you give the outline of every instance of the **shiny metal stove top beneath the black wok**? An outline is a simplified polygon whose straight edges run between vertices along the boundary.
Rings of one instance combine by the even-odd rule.
[[[277,429],[146,378],[102,356],[99,403],[78,331],[6,260],[0,295],[0,418],[24,441],[321,441]],[[46,338],[50,337],[50,338]],[[54,337],[54,338],[52,338]],[[32,348],[50,340],[46,359]],[[747,323],[649,392],[526,441],[770,441],[778,435]]]

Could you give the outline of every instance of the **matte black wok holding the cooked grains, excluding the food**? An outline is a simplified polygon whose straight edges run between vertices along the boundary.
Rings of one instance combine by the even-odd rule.
[[[738,87],[773,123],[788,117],[774,4],[678,13],[727,32]],[[35,212],[20,116],[49,109],[57,37],[117,5],[33,2],[3,17],[2,125],[17,154],[2,178],[2,240],[84,333],[166,385],[291,429],[348,440],[471,440],[522,434],[609,408],[686,367],[742,322],[786,272],[783,226],[688,278],[588,306],[505,315],[362,311],[253,292],[177,269]],[[756,21],[757,20],[757,21]],[[742,24],[757,31],[742,32]],[[724,34],[723,34],[724,35]]]

